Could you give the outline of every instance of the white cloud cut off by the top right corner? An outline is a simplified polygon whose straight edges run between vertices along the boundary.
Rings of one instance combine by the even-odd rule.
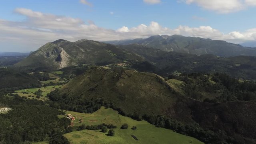
[[[197,4],[206,9],[218,13],[231,13],[244,10],[249,6],[256,6],[256,0],[179,0],[186,4]]]

